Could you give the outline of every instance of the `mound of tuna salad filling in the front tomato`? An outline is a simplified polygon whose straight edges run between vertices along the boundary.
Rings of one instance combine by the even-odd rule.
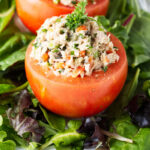
[[[117,48],[110,34],[90,18],[75,30],[67,26],[67,15],[47,19],[37,32],[30,57],[41,66],[48,66],[56,75],[91,76],[96,71],[107,71],[119,60]]]

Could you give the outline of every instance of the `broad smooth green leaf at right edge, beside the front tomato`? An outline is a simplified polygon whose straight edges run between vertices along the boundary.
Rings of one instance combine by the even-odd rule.
[[[132,67],[136,67],[142,63],[150,61],[150,14],[144,12],[135,23],[130,32],[129,46],[132,48],[134,60]],[[131,49],[130,49],[131,51]]]

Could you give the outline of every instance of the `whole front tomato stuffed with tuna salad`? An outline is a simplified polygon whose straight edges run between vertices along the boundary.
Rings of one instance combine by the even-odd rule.
[[[27,49],[25,69],[44,107],[67,117],[85,117],[103,111],[118,96],[127,76],[127,57],[99,17],[85,15],[72,24],[72,15],[45,21]]]

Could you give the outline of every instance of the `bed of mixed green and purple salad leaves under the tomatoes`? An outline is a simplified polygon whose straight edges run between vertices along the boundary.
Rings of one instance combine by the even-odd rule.
[[[14,24],[15,0],[0,1],[0,150],[149,150],[150,14],[137,0],[111,0],[99,23],[124,44],[126,84],[103,113],[68,119],[44,109],[26,80],[24,58],[35,36]]]

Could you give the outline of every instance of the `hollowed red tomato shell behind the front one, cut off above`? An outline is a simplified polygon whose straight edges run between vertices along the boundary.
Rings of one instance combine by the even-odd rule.
[[[89,3],[86,10],[89,16],[105,15],[108,5],[109,0],[96,0],[96,4]],[[34,33],[45,19],[69,14],[74,10],[73,7],[54,4],[52,0],[16,0],[16,7],[22,22]]]

